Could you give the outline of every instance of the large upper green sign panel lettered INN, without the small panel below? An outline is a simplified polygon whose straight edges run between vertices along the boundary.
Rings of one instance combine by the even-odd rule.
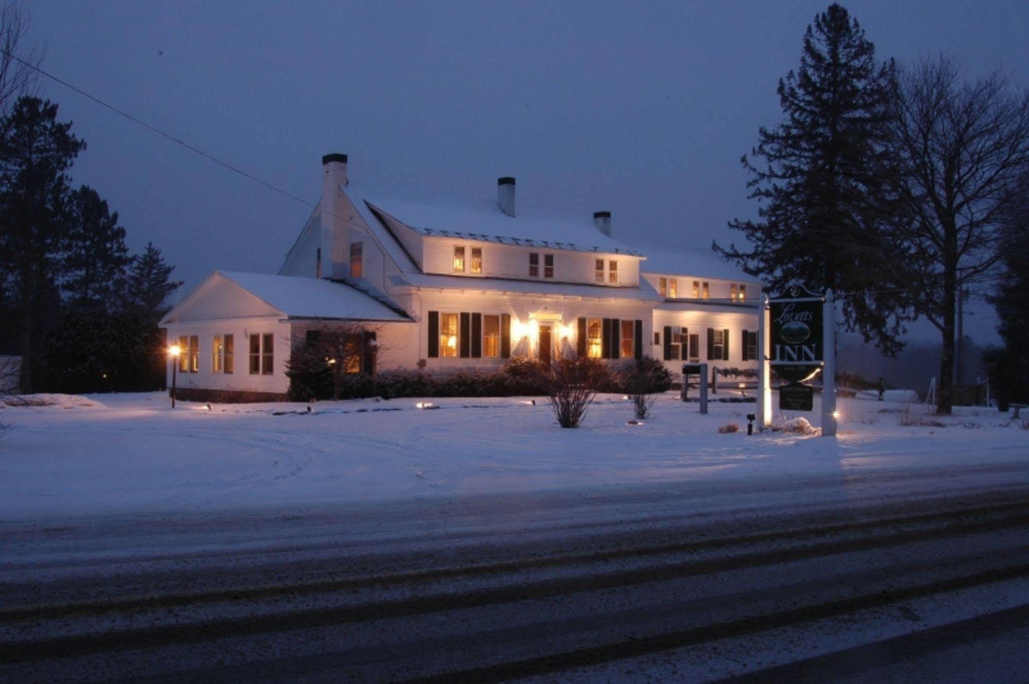
[[[822,367],[822,305],[821,295],[801,286],[788,287],[769,299],[771,364],[780,377],[795,383]]]

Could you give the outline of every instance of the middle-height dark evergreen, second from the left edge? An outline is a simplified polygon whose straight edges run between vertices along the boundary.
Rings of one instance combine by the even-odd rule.
[[[118,214],[110,213],[107,202],[83,185],[69,201],[68,242],[63,259],[62,286],[69,304],[92,311],[117,307],[116,296],[125,285],[129,249]]]

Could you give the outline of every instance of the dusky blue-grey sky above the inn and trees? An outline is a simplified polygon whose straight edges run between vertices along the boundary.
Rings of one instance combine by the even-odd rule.
[[[821,2],[27,3],[43,68],[316,203],[320,157],[419,194],[612,212],[626,242],[708,250],[754,214],[740,156],[781,120],[776,85]],[[880,58],[947,51],[1029,79],[1029,3],[849,2]],[[73,169],[186,281],[275,273],[311,207],[51,81],[88,143]],[[970,305],[978,338],[995,338]],[[916,336],[935,331],[917,326]],[[936,337],[938,338],[938,337]]]

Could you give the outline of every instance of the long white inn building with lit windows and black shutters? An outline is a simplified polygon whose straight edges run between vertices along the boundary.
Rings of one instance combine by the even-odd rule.
[[[708,250],[637,251],[610,212],[518,206],[513,178],[495,200],[425,202],[350,182],[345,154],[322,171],[278,275],[216,271],[164,318],[183,396],[282,398],[291,350],[333,322],[369,331],[353,372],[372,348],[379,371],[574,352],[663,359],[676,376],[687,361],[756,368],[760,283]]]

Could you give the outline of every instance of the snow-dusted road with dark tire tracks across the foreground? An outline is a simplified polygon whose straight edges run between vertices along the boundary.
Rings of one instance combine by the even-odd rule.
[[[889,681],[1025,629],[1027,475],[9,524],[0,680]],[[1020,681],[1007,655],[967,681]]]

